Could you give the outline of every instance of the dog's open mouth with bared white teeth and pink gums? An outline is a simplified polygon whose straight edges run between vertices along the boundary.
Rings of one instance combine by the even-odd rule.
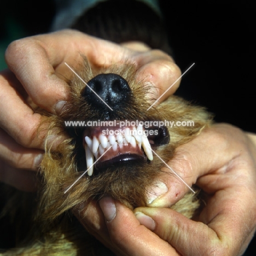
[[[151,126],[147,129],[137,126],[96,126],[83,134],[88,175],[97,169],[130,161],[153,160],[152,147],[170,141],[165,126]]]

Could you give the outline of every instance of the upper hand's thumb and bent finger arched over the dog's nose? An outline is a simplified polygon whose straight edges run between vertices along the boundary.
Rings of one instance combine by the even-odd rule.
[[[63,64],[77,65],[80,54],[87,56],[92,65],[100,67],[135,61],[139,68],[138,78],[146,78],[146,82],[156,88],[152,92],[155,99],[171,87],[162,101],[178,88],[180,81],[176,80],[181,71],[167,54],[150,51],[142,43],[139,45],[143,47],[130,46],[129,49],[127,45],[120,46],[78,31],[64,30],[14,41],[7,48],[5,60],[32,101],[51,113],[60,111],[68,100],[65,80],[71,73]]]

